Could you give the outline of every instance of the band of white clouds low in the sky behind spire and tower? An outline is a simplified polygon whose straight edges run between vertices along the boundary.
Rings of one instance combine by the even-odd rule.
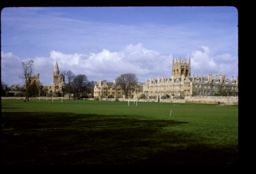
[[[2,79],[8,84],[16,84],[19,80],[20,61],[13,53],[3,53],[2,56]],[[191,75],[194,74],[217,74],[221,70],[222,74],[236,75],[238,71],[237,57],[228,53],[214,55],[208,46],[201,46],[191,53]],[[88,80],[98,78],[113,81],[118,75],[124,73],[134,73],[140,82],[147,81],[150,77],[158,76],[171,77],[172,75],[172,55],[162,55],[155,50],[144,48],[143,44],[127,45],[118,52],[111,52],[103,49],[99,53],[88,55],[73,53],[65,54],[52,50],[49,57],[35,57],[35,72],[40,73],[40,81],[43,85],[51,85],[52,71],[56,60],[59,70],[71,70],[74,74],[85,74]],[[189,56],[187,56],[189,57]],[[15,67],[13,70],[12,67]],[[13,80],[9,81],[9,75]]]

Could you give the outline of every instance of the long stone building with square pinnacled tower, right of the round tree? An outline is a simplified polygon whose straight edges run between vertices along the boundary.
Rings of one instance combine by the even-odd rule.
[[[173,99],[183,99],[184,96],[237,96],[238,77],[231,80],[226,75],[211,74],[208,77],[191,78],[190,58],[189,63],[185,59],[172,60],[172,77],[150,78],[143,85],[143,93],[148,97],[171,97]]]

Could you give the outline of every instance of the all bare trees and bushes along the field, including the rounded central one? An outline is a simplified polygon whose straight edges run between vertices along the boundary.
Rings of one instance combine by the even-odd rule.
[[[46,96],[47,89],[43,88],[43,85],[37,82],[30,82],[29,79],[34,77],[34,61],[22,61],[22,74],[20,78],[24,80],[24,86],[17,86],[15,89],[9,88],[4,82],[1,81],[1,96],[19,96],[26,97],[26,101],[29,102],[30,97]],[[63,95],[68,95],[69,99],[80,99],[85,97],[94,97],[93,88],[97,82],[88,81],[88,78],[84,74],[73,74],[70,70],[62,71],[64,86],[62,88]],[[126,96],[129,95],[129,90],[136,87],[138,79],[135,74],[127,73],[121,74],[116,79],[116,85],[123,90]],[[15,91],[14,91],[15,90]],[[50,91],[50,95],[54,95]],[[55,93],[55,96],[60,95]],[[89,96],[90,95],[90,96]]]

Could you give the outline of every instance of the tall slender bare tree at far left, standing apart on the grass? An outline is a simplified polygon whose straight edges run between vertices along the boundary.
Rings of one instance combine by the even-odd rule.
[[[28,61],[22,61],[22,74],[20,75],[20,78],[25,80],[25,96],[27,102],[29,102],[29,88],[30,88],[30,82],[29,79],[33,75],[34,71],[34,61],[33,60],[28,60]]]

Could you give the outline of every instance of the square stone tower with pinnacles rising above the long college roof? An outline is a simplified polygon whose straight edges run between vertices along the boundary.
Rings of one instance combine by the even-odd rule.
[[[191,77],[191,68],[190,68],[190,57],[189,62],[187,63],[186,58],[180,58],[175,61],[175,58],[172,58],[172,76],[175,78]]]

